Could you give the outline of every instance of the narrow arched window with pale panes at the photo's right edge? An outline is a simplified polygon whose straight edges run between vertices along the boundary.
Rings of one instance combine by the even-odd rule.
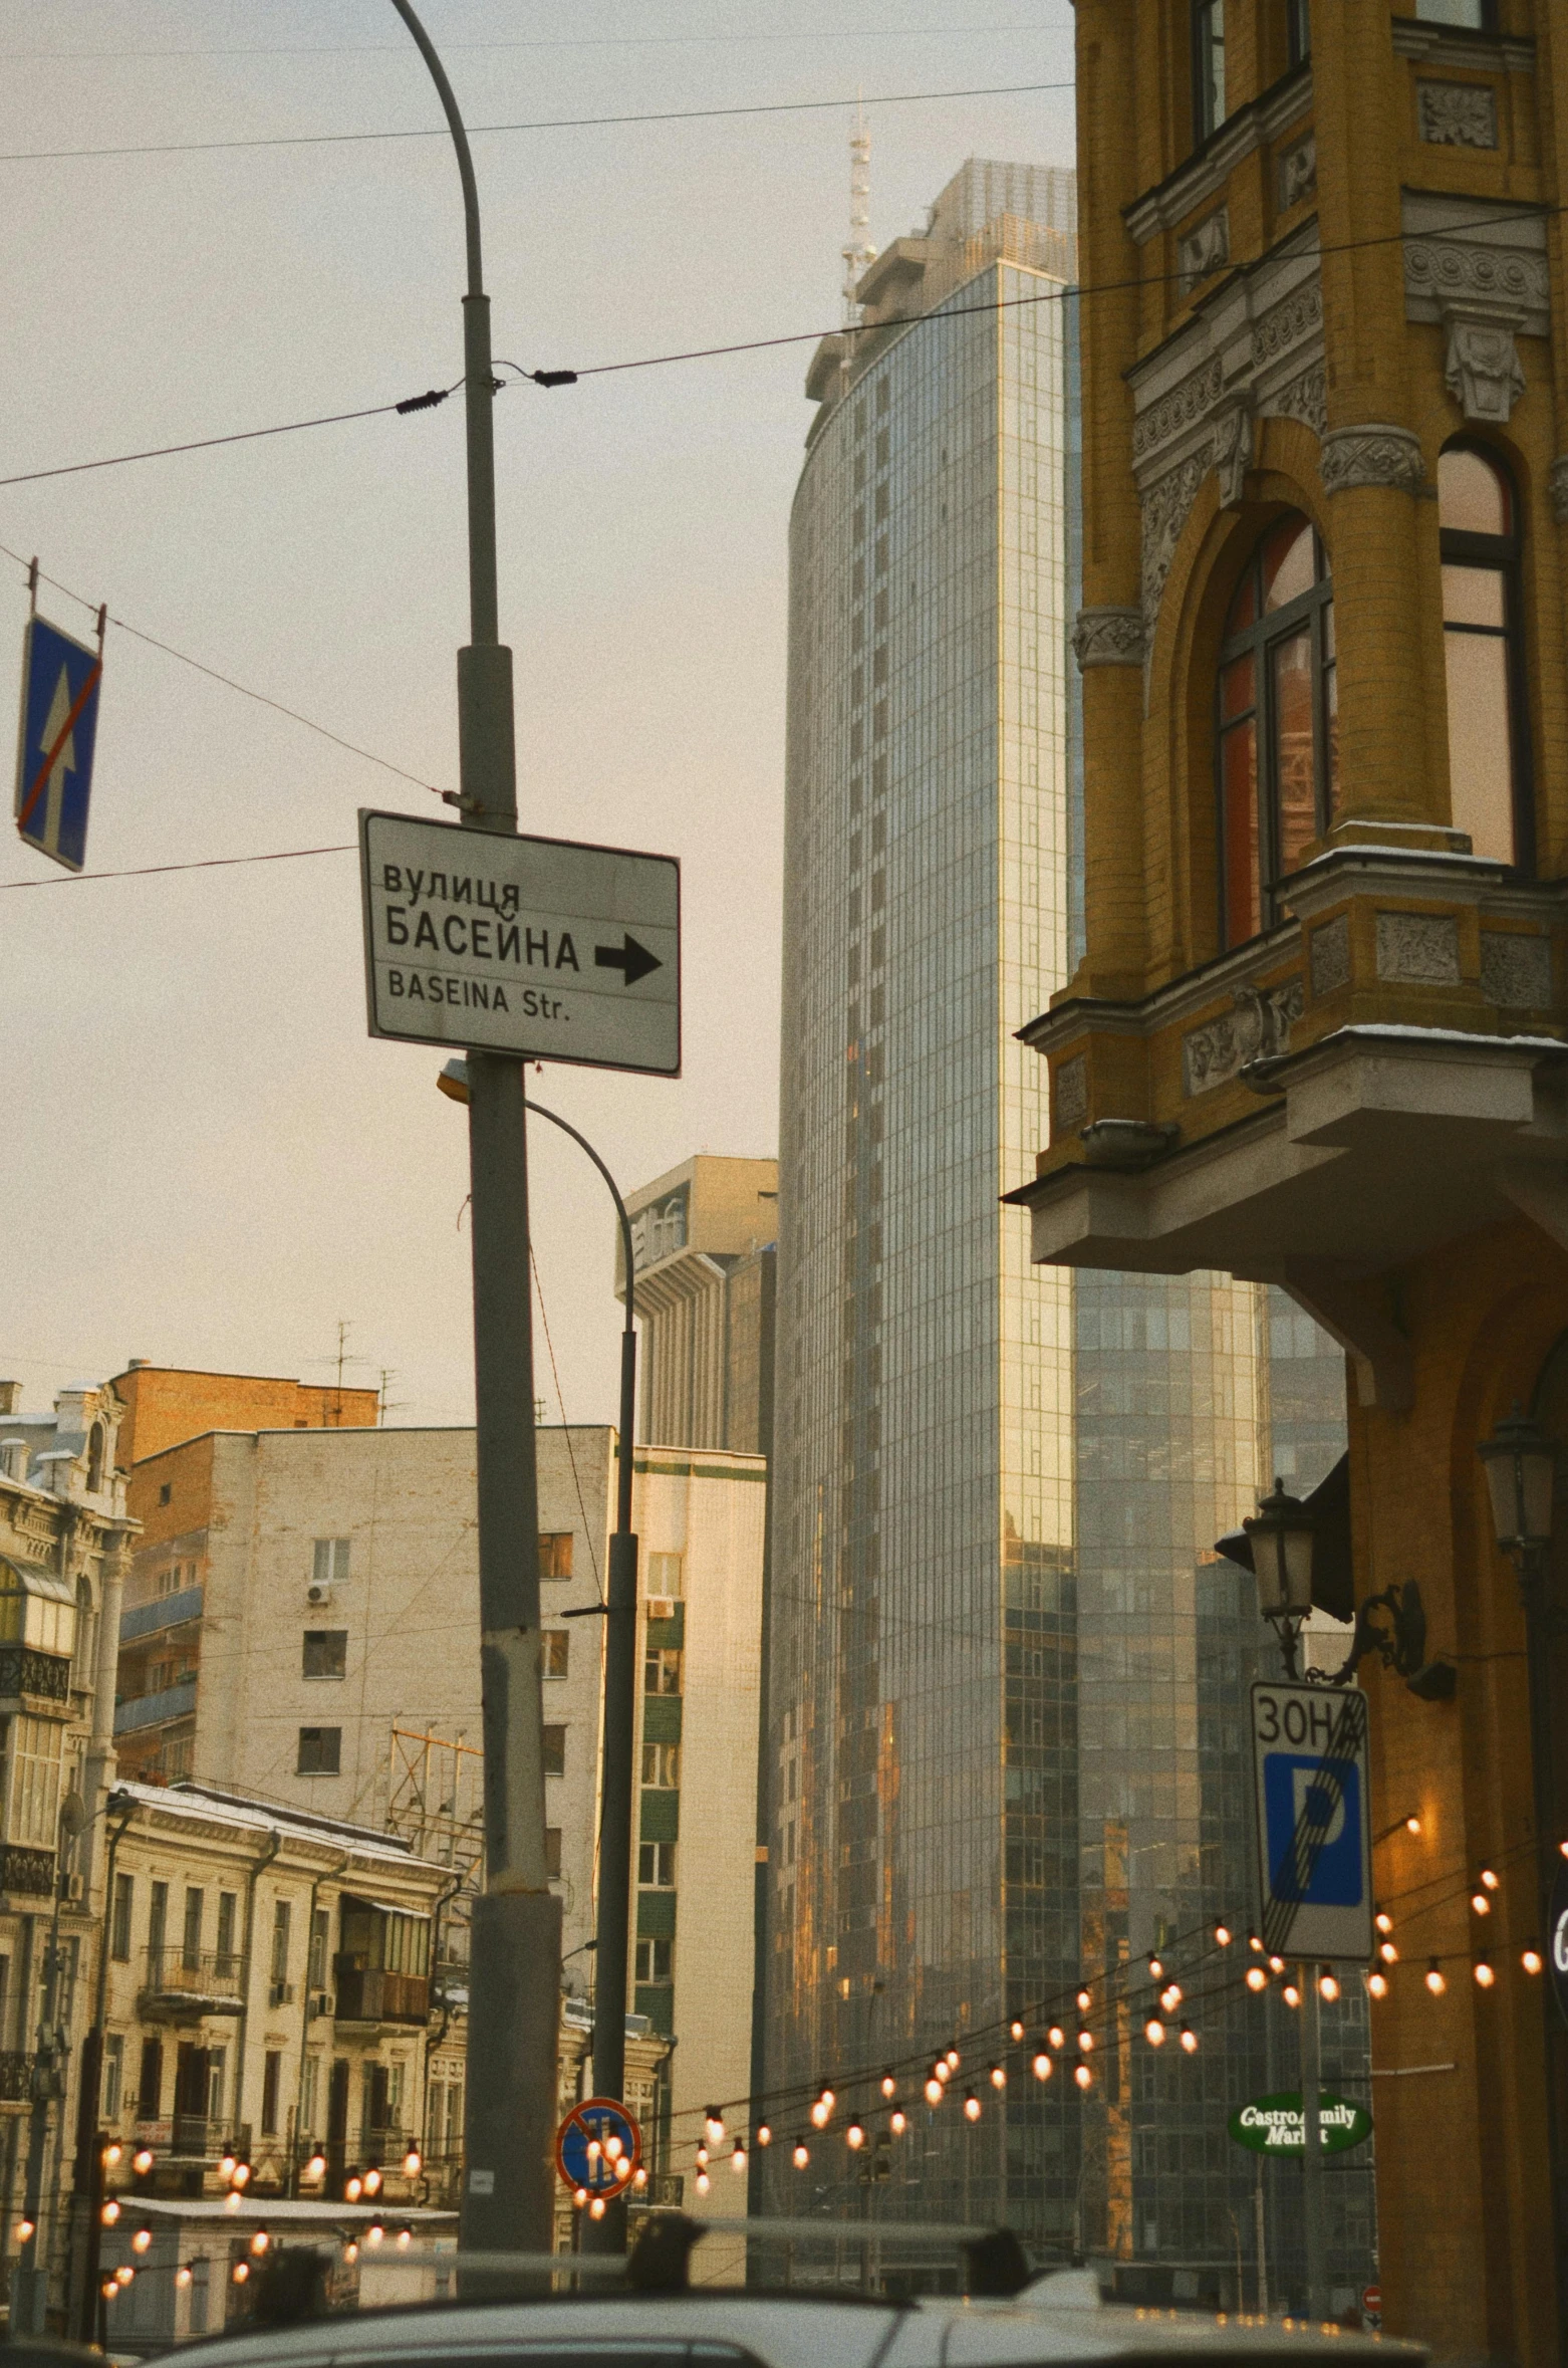
[[[1530,860],[1514,485],[1478,445],[1438,455],[1447,772],[1476,855]]]

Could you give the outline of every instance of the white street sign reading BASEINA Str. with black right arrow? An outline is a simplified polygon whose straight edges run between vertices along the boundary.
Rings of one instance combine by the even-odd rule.
[[[360,812],[369,1032],[680,1075],[680,864]]]

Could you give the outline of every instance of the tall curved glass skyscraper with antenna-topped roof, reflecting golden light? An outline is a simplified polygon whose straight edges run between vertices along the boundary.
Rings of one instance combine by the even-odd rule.
[[[1033,1267],[1026,1217],[1002,1205],[1049,1130],[1045,1063],[1016,1030],[1075,952],[1073,227],[1068,173],[966,163],[808,374],[767,2207],[1007,2221],[1042,2254],[1170,2278],[1217,2276],[1241,2245],[1251,2278],[1253,2169],[1225,2115],[1267,2084],[1270,2010],[1213,1942],[1184,1939],[1217,1916],[1244,1932],[1248,1897],[1246,1684],[1265,1632],[1213,1539],[1251,1511],[1270,1452],[1298,1487],[1336,1459],[1343,1359],[1222,1276]],[[1298,1376],[1277,1437],[1270,1321]],[[1196,2055],[1142,2036],[1156,1949]],[[1052,2018],[1068,2046],[1037,2081]],[[1087,2091],[1068,2060],[1080,2022]],[[959,2070],[926,2108],[947,2046]],[[1331,2027],[1326,2063],[1334,2046]],[[898,2138],[883,2065],[910,2115]],[[820,2081],[838,2093],[822,2134]],[[1364,2190],[1331,2181],[1343,2276],[1369,2273]]]

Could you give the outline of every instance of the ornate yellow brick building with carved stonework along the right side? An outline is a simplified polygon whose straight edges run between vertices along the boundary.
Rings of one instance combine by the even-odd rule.
[[[1087,952],[1018,1198],[1037,1260],[1274,1281],[1350,1354],[1357,1594],[1457,1669],[1369,1677],[1386,2323],[1544,2363],[1568,1660],[1537,1617],[1532,1717],[1476,1449],[1568,1449],[1568,7],[1078,0],[1078,126]]]

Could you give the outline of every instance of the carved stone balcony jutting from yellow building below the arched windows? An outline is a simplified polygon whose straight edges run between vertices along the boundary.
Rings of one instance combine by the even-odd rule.
[[[1142,1002],[1063,997],[1021,1030],[1054,1122],[1009,1201],[1042,1262],[1281,1283],[1355,1357],[1362,1404],[1400,1407],[1409,1343],[1367,1276],[1518,1212],[1568,1241],[1563,890],[1345,845],[1281,902]]]

